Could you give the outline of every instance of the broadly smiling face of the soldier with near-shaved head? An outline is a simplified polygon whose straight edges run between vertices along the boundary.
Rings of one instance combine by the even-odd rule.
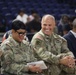
[[[53,16],[44,16],[41,22],[42,32],[46,35],[51,35],[55,27],[55,20]]]

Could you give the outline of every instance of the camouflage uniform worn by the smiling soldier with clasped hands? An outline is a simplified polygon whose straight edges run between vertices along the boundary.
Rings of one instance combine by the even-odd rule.
[[[34,54],[38,60],[44,60],[48,69],[45,75],[76,75],[75,67],[69,68],[59,64],[59,60],[64,56],[73,56],[67,48],[64,38],[53,33],[51,36],[45,35],[41,30],[36,33],[31,41],[34,47]]]

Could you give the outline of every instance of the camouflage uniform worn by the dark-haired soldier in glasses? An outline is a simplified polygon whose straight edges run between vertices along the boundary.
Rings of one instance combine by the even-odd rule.
[[[38,75],[28,72],[28,62],[36,61],[32,47],[23,40],[18,43],[9,37],[1,44],[3,52],[2,68],[4,75]],[[40,74],[39,74],[40,75]]]

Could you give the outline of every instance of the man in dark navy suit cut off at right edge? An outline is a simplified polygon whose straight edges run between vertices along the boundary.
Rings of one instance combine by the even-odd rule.
[[[68,48],[70,51],[73,52],[73,54],[76,58],[76,19],[74,19],[72,25],[73,25],[73,29],[70,30],[63,37],[67,40]]]

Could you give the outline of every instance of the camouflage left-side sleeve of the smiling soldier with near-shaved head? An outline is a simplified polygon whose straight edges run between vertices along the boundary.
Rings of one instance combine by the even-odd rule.
[[[59,64],[60,55],[57,56],[48,51],[43,40],[35,38],[32,39],[31,44],[40,59],[50,64]]]

